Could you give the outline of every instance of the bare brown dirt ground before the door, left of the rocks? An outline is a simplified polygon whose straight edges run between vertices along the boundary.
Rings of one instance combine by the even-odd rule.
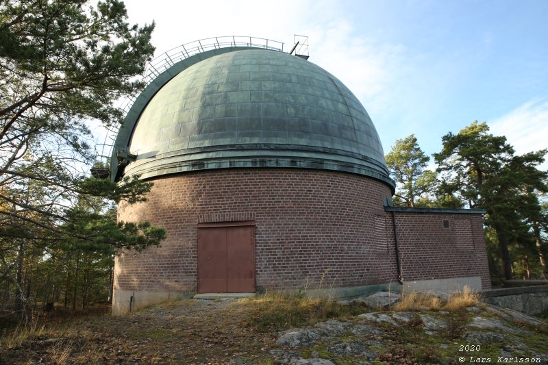
[[[238,301],[191,299],[79,318],[12,340],[0,364],[269,364],[274,335],[253,329],[246,313]]]

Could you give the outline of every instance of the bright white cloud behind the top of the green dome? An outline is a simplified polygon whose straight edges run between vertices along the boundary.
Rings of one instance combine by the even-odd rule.
[[[130,23],[156,22],[156,55],[186,42],[214,36],[254,36],[285,42],[293,34],[308,36],[310,61],[335,75],[372,114],[393,103],[395,80],[401,73],[403,47],[376,42],[359,33],[351,21],[358,5],[335,0],[279,1],[126,1]]]

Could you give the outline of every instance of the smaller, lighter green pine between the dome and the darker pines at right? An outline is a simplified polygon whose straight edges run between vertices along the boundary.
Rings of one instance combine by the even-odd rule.
[[[390,149],[386,155],[386,164],[397,184],[396,205],[430,205],[427,194],[436,186],[436,174],[425,169],[429,160],[413,134],[397,140]]]

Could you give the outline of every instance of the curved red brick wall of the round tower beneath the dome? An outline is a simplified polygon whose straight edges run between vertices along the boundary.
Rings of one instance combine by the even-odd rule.
[[[151,221],[166,228],[167,239],[162,247],[119,256],[116,289],[196,291],[197,223],[250,220],[256,221],[258,288],[315,288],[322,278],[324,288],[395,281],[382,209],[390,190],[378,181],[273,168],[153,181],[149,201],[121,204],[119,220]]]

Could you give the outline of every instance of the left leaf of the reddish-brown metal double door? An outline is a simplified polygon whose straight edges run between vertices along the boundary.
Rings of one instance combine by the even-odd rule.
[[[227,292],[226,229],[198,230],[198,292]]]

